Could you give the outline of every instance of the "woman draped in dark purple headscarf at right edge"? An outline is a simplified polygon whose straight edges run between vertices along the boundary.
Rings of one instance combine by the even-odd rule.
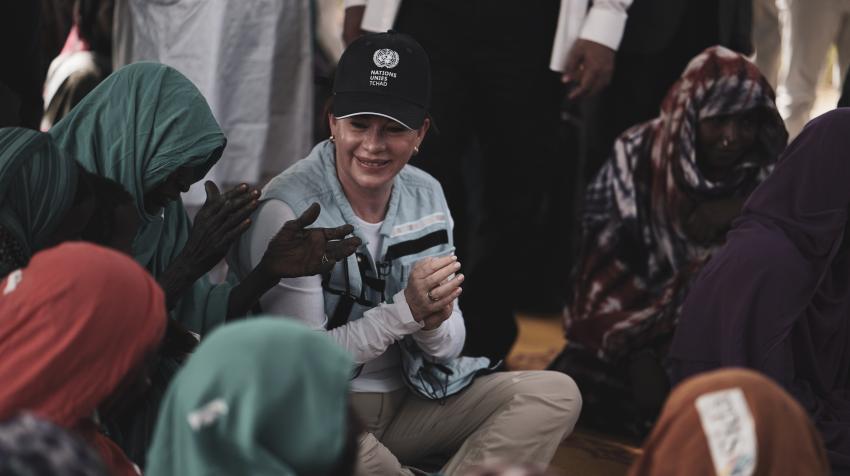
[[[811,121],[694,281],[674,381],[723,366],[767,374],[850,472],[850,110]]]

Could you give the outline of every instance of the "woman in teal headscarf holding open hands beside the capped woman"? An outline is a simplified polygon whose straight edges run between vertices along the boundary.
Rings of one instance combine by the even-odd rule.
[[[142,222],[133,254],[163,287],[172,317],[198,334],[246,314],[280,278],[319,273],[359,244],[337,241],[350,226],[305,229],[318,215],[310,209],[279,227],[262,263],[240,283],[211,284],[206,274],[247,229],[260,194],[245,184],[221,194],[207,182],[207,201],[190,225],[180,193],[218,161],[226,140],[198,89],[168,66],[116,71],[50,134],[87,170],[133,196]]]

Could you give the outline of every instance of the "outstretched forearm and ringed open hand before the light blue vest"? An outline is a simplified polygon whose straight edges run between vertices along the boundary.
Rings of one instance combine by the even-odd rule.
[[[257,267],[230,292],[228,319],[247,314],[260,297],[281,279],[325,273],[337,261],[357,250],[360,239],[345,238],[354,231],[351,225],[307,228],[316,221],[320,211],[319,204],[314,203],[300,217],[281,227],[269,242]]]

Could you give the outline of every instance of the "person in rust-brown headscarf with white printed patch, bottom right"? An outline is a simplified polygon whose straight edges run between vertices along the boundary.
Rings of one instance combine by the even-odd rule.
[[[629,476],[827,476],[820,435],[770,379],[727,369],[677,386]]]

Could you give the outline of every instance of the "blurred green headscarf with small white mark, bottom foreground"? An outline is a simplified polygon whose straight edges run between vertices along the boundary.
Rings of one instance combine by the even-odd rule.
[[[146,474],[323,474],[347,434],[351,359],[290,319],[213,332],[168,388]]]

